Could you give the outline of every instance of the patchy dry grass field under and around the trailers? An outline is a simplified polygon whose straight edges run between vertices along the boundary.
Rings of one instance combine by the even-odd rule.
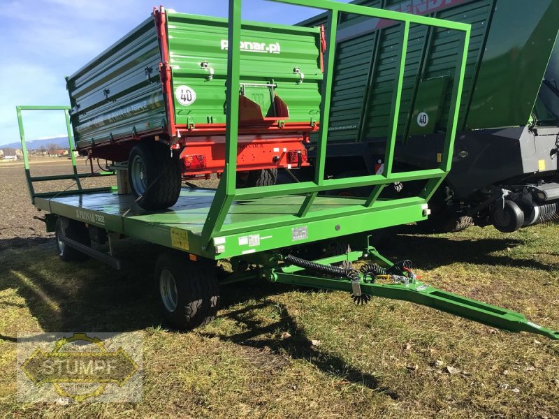
[[[52,166],[52,167],[51,167]],[[33,166],[52,172],[57,163]],[[185,418],[558,418],[559,343],[407,302],[251,281],[223,286],[219,318],[161,327],[159,249],[119,244],[129,266],[63,263],[29,204],[23,169],[0,166],[0,416]],[[559,226],[470,228],[380,248],[423,281],[559,329]],[[17,332],[143,331],[143,402],[20,404]]]

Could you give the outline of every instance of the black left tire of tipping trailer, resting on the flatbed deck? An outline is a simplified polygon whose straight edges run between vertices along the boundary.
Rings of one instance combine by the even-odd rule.
[[[140,142],[128,159],[128,178],[138,205],[144,210],[165,210],[177,203],[180,195],[179,153],[170,155],[160,142]]]

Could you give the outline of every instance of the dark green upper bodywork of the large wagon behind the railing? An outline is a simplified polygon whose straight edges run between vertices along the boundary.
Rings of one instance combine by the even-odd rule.
[[[493,128],[528,123],[530,110],[538,94],[539,81],[559,30],[559,1],[540,0],[357,0],[363,6],[390,8],[421,13],[444,20],[472,25],[464,79],[458,129]],[[495,13],[493,6],[497,4]],[[435,10],[439,8],[439,10]],[[435,10],[435,11],[433,11]],[[507,22],[518,21],[516,24]],[[301,24],[325,22],[319,15]],[[388,131],[392,91],[396,79],[398,25],[381,25],[355,15],[342,15],[338,27],[335,82],[331,108],[332,141],[356,141],[366,86],[368,107],[363,115],[362,138],[383,138]],[[488,29],[489,28],[489,29]],[[515,29],[516,28],[516,29]],[[353,38],[346,36],[350,34]],[[376,68],[367,84],[372,48],[380,36]],[[417,131],[414,118],[407,127],[408,115],[420,101],[417,80],[447,78],[452,85],[461,34],[447,29],[433,29],[429,39],[425,26],[410,26],[405,77],[402,89],[398,135]],[[423,48],[426,47],[425,52]],[[425,61],[423,65],[422,62]],[[418,73],[419,72],[419,73]],[[419,74],[419,79],[416,76]],[[449,119],[451,90],[447,89],[438,105],[433,131],[443,131]],[[430,121],[431,122],[431,121]],[[411,131],[407,131],[409,128]],[[423,132],[424,133],[424,132]]]

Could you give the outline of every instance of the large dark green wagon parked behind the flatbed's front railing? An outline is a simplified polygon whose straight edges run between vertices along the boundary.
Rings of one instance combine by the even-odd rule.
[[[433,217],[422,226],[457,230],[472,222],[493,223],[510,232],[553,219],[559,210],[559,123],[549,118],[543,103],[536,107],[535,103],[541,87],[546,103],[552,108],[558,104],[558,91],[549,89],[556,84],[542,85],[542,78],[558,36],[559,2],[353,3],[472,25],[452,170],[430,202]],[[325,22],[325,15],[319,15],[301,25]],[[399,28],[387,20],[347,14],[340,17],[339,32],[326,173],[331,177],[375,173],[384,164]],[[410,27],[395,147],[394,165],[399,170],[432,168],[440,160],[449,117],[447,86],[454,77],[458,45],[456,34],[445,29]],[[313,160],[314,145],[309,149]],[[421,187],[398,184],[386,189],[384,196],[414,194]],[[344,193],[360,195],[367,190]]]

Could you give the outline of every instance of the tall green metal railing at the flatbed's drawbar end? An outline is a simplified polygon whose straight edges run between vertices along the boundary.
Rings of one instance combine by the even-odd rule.
[[[228,8],[228,45],[240,44],[241,29],[241,1],[230,0]],[[235,88],[240,84],[240,49],[229,48],[227,60],[227,86],[233,87],[227,90],[226,94],[226,153],[225,168],[215,198],[210,207],[210,212],[205,220],[202,238],[203,242],[209,242],[212,237],[217,235],[227,235],[239,231],[249,231],[254,229],[254,225],[246,223],[245,225],[234,224],[224,226],[224,221],[231,208],[234,200],[247,200],[252,198],[269,198],[282,195],[306,194],[306,198],[300,209],[292,216],[278,216],[274,219],[268,219],[268,226],[284,226],[300,223],[311,219],[333,218],[335,216],[345,216],[349,214],[358,214],[361,212],[370,212],[386,207],[386,203],[377,200],[382,189],[394,182],[409,182],[415,180],[426,179],[425,188],[416,198],[402,198],[391,201],[390,205],[411,205],[419,202],[426,203],[435,193],[435,190],[442,183],[444,177],[451,168],[452,150],[454,137],[456,135],[456,126],[458,124],[458,112],[460,109],[460,97],[462,96],[463,80],[465,74],[465,65],[467,58],[467,45],[470,42],[470,25],[457,22],[449,22],[446,20],[434,19],[432,17],[423,17],[410,15],[407,13],[394,12],[391,10],[370,8],[366,6],[357,6],[355,4],[339,3],[331,0],[269,0],[278,3],[289,3],[296,6],[305,6],[327,10],[328,12],[328,34],[326,54],[326,62],[324,66],[324,80],[322,84],[322,103],[321,103],[321,119],[320,119],[320,135],[317,144],[317,163],[314,172],[314,180],[312,182],[300,182],[297,184],[282,184],[275,186],[260,186],[246,189],[236,189],[235,177],[237,170],[237,144],[238,144],[238,91]],[[395,89],[393,90],[393,99],[391,105],[391,116],[389,120],[389,132],[386,141],[385,166],[384,172],[379,175],[368,175],[361,177],[351,177],[344,179],[324,179],[324,170],[326,165],[326,144],[328,141],[328,121],[330,117],[330,102],[332,96],[332,80],[333,80],[333,63],[336,53],[336,31],[338,16],[340,13],[351,13],[354,15],[363,15],[368,17],[376,17],[380,19],[393,20],[401,22],[401,42],[402,49],[399,54],[398,78],[395,80]],[[396,128],[398,127],[398,115],[400,114],[400,98],[402,95],[402,81],[405,71],[405,59],[407,53],[407,43],[409,39],[410,24],[423,24],[431,27],[440,27],[444,29],[463,32],[463,43],[458,50],[458,64],[456,66],[456,74],[452,87],[451,96],[451,117],[447,125],[447,135],[444,141],[444,149],[442,152],[442,160],[438,168],[429,170],[414,170],[411,172],[393,172],[393,157],[396,141]],[[375,186],[364,203],[351,204],[337,208],[335,210],[319,210],[309,212],[314,199],[321,191],[331,191],[335,189],[345,189],[358,186]],[[361,200],[361,202],[363,202]]]

